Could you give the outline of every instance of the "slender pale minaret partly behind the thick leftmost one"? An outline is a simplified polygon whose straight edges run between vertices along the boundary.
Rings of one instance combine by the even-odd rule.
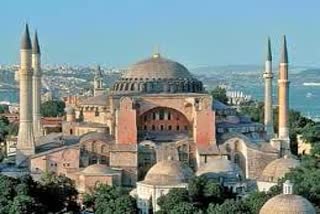
[[[38,41],[38,34],[35,32],[34,40],[32,44],[32,68],[33,68],[33,76],[32,76],[32,118],[33,118],[33,132],[35,135],[35,139],[42,136],[41,129],[41,113],[40,113],[40,105],[41,105],[41,52]]]

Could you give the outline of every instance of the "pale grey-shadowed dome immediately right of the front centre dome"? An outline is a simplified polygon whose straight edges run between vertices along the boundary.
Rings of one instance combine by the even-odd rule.
[[[204,175],[209,179],[223,178],[226,182],[240,181],[244,178],[240,167],[225,158],[210,160],[198,169],[196,175]]]

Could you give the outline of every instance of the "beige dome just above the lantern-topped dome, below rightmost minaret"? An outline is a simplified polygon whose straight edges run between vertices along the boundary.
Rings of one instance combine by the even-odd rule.
[[[299,165],[299,160],[284,156],[269,163],[262,171],[259,180],[277,182],[280,178],[284,177],[286,173],[290,172],[290,169],[296,168]]]

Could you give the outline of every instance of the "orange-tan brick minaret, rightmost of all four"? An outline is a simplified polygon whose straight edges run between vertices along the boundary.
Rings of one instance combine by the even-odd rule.
[[[289,80],[288,80],[288,50],[286,36],[283,36],[283,47],[280,59],[278,98],[279,98],[279,139],[283,141],[282,148],[290,151],[289,139]],[[285,152],[287,153],[287,152]]]

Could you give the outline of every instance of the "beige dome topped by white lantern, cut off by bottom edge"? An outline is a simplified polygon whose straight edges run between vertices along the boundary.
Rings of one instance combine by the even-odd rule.
[[[281,194],[269,199],[260,214],[316,214],[313,205],[299,195]]]

